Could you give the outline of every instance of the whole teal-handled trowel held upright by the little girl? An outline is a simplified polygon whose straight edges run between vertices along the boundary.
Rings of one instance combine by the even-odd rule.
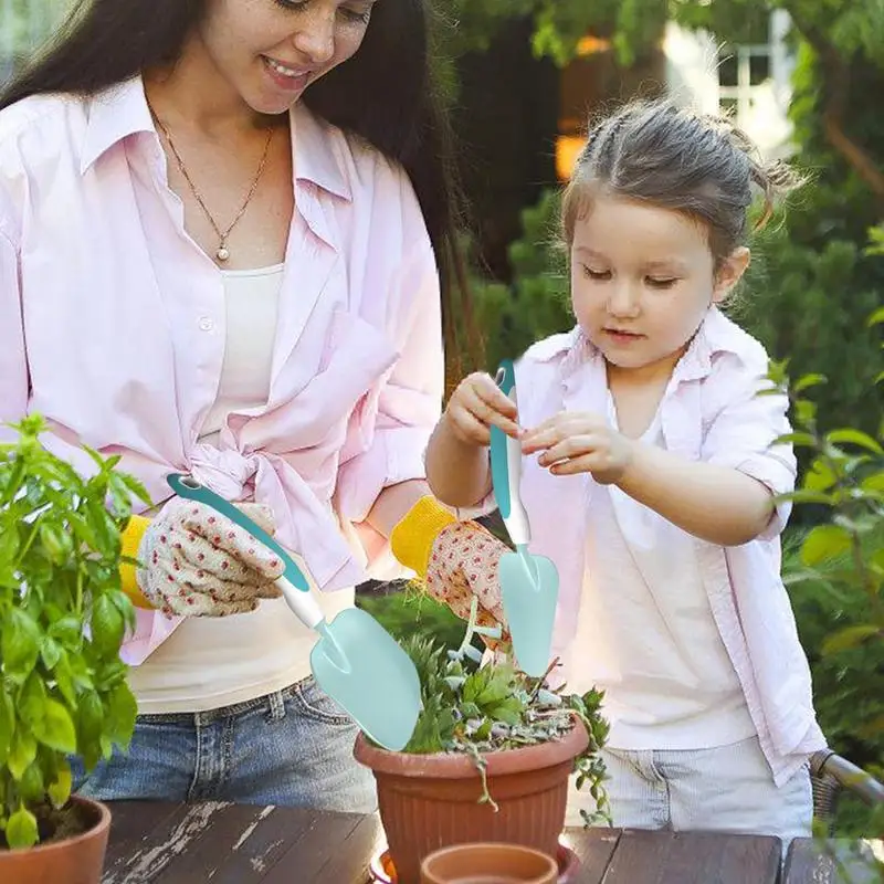
[[[516,371],[512,360],[501,362],[497,385],[516,401]],[[497,508],[516,547],[515,552],[504,552],[501,557],[499,571],[513,652],[519,669],[539,678],[550,662],[559,575],[550,559],[528,551],[532,532],[519,497],[522,445],[496,427],[491,428],[491,475]]]

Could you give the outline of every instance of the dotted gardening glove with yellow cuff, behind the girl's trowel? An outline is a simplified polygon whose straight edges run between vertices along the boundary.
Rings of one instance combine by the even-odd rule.
[[[396,558],[411,568],[428,592],[462,620],[478,601],[476,624],[501,627],[502,636],[482,639],[491,650],[511,642],[506,630],[498,566],[509,548],[476,522],[457,522],[433,497],[421,498],[390,535]]]

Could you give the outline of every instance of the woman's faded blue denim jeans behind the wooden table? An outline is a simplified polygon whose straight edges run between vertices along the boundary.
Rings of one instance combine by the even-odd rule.
[[[139,715],[128,749],[73,788],[99,801],[233,801],[371,813],[371,771],[352,757],[358,728],[313,677],[211,712]]]

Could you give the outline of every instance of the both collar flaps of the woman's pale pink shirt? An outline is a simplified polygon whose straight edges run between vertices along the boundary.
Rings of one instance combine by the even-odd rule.
[[[340,199],[352,199],[336,149],[338,141],[328,137],[328,124],[298,102],[290,112],[290,126],[295,180],[311,181]],[[90,102],[81,172],[85,175],[107,150],[128,136],[152,133],[156,137],[156,131],[140,75],[103,90]]]

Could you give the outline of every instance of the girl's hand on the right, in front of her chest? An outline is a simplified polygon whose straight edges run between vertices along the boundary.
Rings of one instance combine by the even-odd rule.
[[[560,411],[528,430],[523,454],[543,454],[537,462],[557,476],[591,473],[602,485],[619,482],[633,455],[633,441],[598,414]]]

